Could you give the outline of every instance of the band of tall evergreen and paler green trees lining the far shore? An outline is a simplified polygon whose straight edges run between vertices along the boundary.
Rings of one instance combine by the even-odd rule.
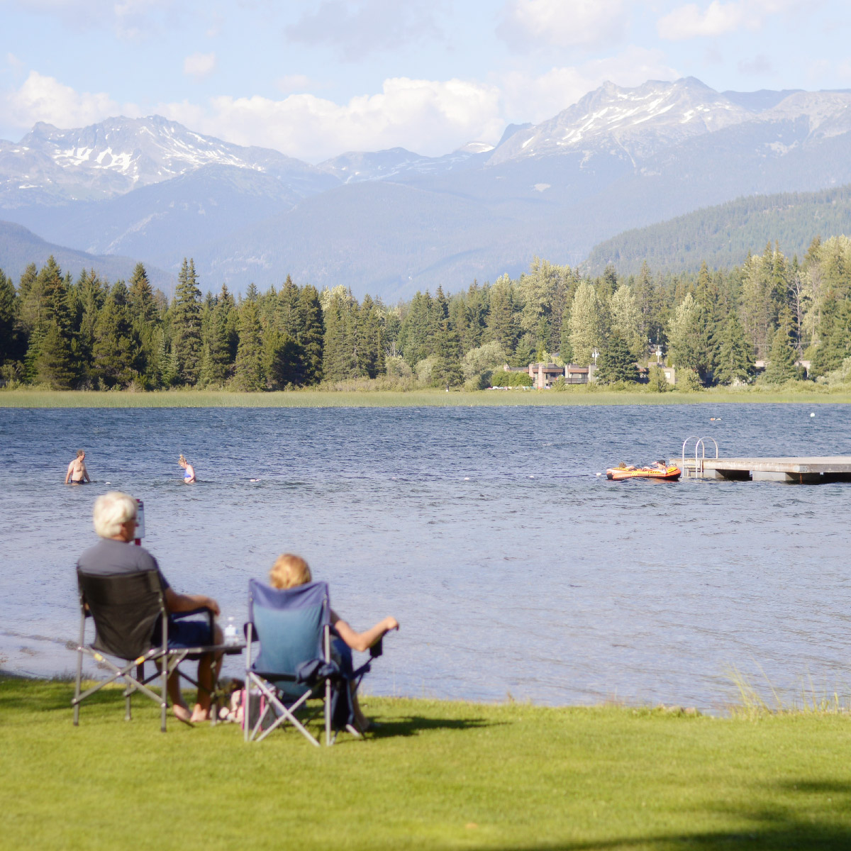
[[[589,277],[535,260],[516,279],[417,293],[396,305],[286,277],[234,299],[202,294],[191,260],[169,303],[136,266],[125,283],[76,280],[54,258],[18,282],[0,271],[0,374],[58,389],[213,386],[288,389],[359,380],[372,386],[487,386],[503,363],[590,363],[603,381],[661,348],[687,386],[825,376],[851,356],[851,239],[820,238],[789,260],[775,243],[740,266]],[[851,361],[845,363],[848,367]]]

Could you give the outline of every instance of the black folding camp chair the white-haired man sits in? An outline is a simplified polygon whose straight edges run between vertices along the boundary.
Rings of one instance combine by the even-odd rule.
[[[243,645],[222,647],[168,648],[168,614],[165,608],[165,598],[160,585],[159,574],[156,570],[146,570],[134,574],[92,575],[77,571],[77,585],[80,591],[80,641],[77,644],[77,686],[71,705],[74,707],[74,725],[80,721],[80,704],[104,686],[114,683],[123,677],[126,688],[125,720],[131,717],[130,698],[138,691],[154,701],[161,711],[160,729],[166,729],[166,711],[168,709],[168,692],[166,683],[169,675],[187,659],[197,659],[203,653],[226,652],[241,653]],[[197,609],[195,612],[180,613],[181,615],[205,612],[213,625],[213,613],[208,609]],[[178,615],[180,616],[180,615]],[[86,620],[94,620],[94,641],[86,643]],[[174,618],[175,615],[172,615]],[[157,621],[160,624],[157,643],[153,636]],[[111,676],[97,683],[92,688],[81,692],[83,682],[83,654],[88,654],[96,662],[111,671]],[[107,656],[123,660],[127,664],[114,664]],[[145,676],[145,663],[154,663],[154,672]],[[133,673],[135,669],[135,675]],[[197,680],[180,671],[197,688],[202,686]],[[149,684],[153,680],[161,680],[160,691],[157,694]],[[217,684],[214,683],[214,700],[218,697]],[[214,703],[214,718],[218,716],[217,702]]]

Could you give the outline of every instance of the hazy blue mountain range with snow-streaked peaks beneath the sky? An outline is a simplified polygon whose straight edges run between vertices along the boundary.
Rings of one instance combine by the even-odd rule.
[[[737,197],[840,186],[849,155],[851,93],[717,92],[694,77],[604,83],[496,146],[443,157],[393,148],[311,165],[117,117],[0,141],[0,219],[171,275],[191,256],[203,288],[289,273],[392,301],[515,276],[535,255],[578,264],[621,231]]]

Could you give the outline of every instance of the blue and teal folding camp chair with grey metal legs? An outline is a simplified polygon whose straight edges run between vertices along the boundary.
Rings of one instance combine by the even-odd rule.
[[[247,652],[245,657],[245,740],[263,740],[289,722],[313,745],[319,740],[295,717],[308,700],[323,700],[325,744],[332,745],[334,698],[348,700],[350,683],[359,682],[369,663],[357,671],[344,671],[331,654],[331,607],[328,585],[311,582],[296,588],[278,589],[257,580],[248,581]],[[260,654],[252,660],[252,644],[260,642]],[[266,698],[265,710],[251,709],[254,688]],[[259,700],[254,695],[254,700]],[[275,716],[269,722],[269,713]],[[343,713],[345,716],[345,712]],[[335,726],[360,737],[344,720]],[[336,738],[336,734],[334,734]]]

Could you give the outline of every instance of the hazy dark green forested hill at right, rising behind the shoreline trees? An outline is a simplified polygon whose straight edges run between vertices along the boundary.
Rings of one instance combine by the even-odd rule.
[[[851,232],[851,186],[736,198],[625,231],[596,245],[583,268],[599,274],[611,264],[625,275],[645,261],[662,271],[698,271],[704,262],[729,268],[743,263],[754,246],[775,240],[789,256],[802,256],[814,232],[823,238]]]

